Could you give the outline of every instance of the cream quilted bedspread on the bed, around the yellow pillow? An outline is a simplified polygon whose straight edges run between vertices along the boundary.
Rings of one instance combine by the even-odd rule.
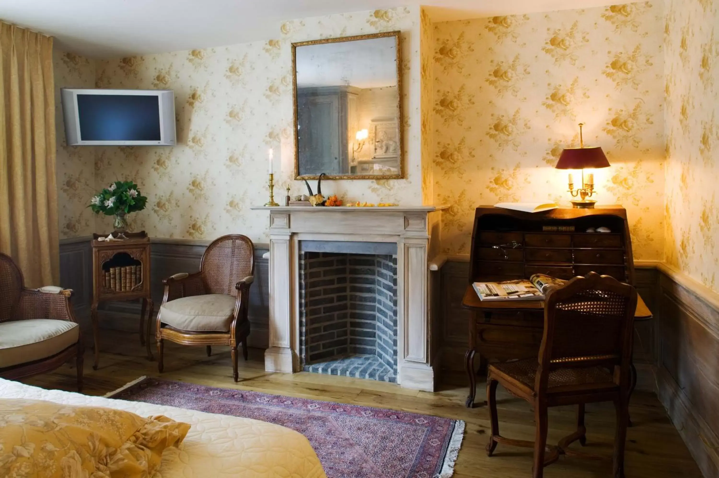
[[[307,438],[272,423],[185,408],[45,390],[0,379],[0,398],[50,400],[165,415],[191,425],[180,449],[162,454],[154,478],[326,478]]]

